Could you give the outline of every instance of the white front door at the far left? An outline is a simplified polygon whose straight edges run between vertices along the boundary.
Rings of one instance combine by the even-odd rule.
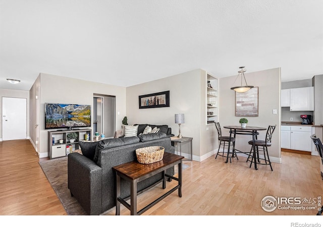
[[[2,98],[2,139],[27,138],[27,100],[25,98]]]

